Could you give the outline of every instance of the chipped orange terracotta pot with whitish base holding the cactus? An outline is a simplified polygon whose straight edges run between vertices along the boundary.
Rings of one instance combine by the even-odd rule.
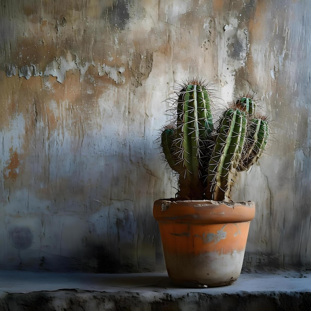
[[[254,202],[157,200],[166,269],[177,284],[216,287],[240,275]]]

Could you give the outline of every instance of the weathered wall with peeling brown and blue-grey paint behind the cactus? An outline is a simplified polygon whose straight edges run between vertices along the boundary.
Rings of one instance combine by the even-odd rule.
[[[155,140],[193,76],[254,91],[274,140],[245,268],[311,267],[311,26],[302,0],[1,0],[0,266],[164,269],[152,217],[174,195]]]

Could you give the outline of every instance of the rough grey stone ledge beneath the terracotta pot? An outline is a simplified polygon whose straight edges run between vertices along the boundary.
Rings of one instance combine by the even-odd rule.
[[[177,288],[166,273],[0,271],[0,310],[311,310],[311,273],[242,273],[230,286]]]

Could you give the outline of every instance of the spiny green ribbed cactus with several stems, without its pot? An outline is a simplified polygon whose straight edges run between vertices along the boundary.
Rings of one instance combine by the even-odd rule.
[[[262,155],[268,138],[266,118],[255,115],[252,97],[241,97],[215,124],[210,91],[193,79],[177,92],[175,122],[164,127],[162,151],[179,174],[177,199],[229,200],[235,172]]]

